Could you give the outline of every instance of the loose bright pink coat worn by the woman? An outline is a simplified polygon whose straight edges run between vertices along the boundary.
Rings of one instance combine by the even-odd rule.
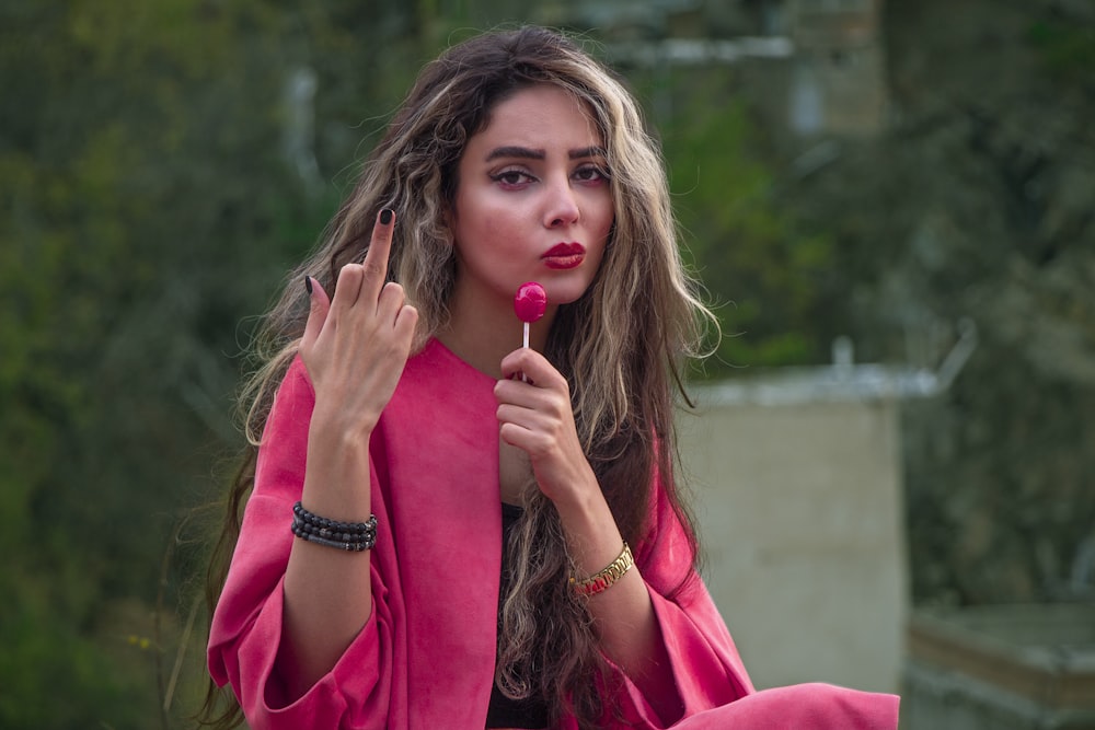
[[[209,636],[209,671],[232,684],[253,730],[483,729],[502,565],[494,383],[436,340],[407,362],[370,442],[379,529],[371,563],[362,565],[372,575],[372,615],[335,667],[292,699],[275,658],[291,507],[304,479],[314,404],[302,362],[292,364],[266,425]],[[684,706],[675,728],[897,727],[895,696],[822,684],[753,690],[699,577],[665,598],[688,551],[660,489],[649,537],[635,556]],[[609,704],[634,727],[664,727],[623,680]]]

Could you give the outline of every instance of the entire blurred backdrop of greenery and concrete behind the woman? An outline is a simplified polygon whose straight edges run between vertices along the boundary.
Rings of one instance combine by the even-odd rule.
[[[1095,676],[1061,663],[1095,646],[1095,3],[0,0],[0,727],[193,727],[200,508],[242,444],[255,318],[422,65],[521,22],[581,34],[641,100],[733,335],[687,416],[733,422],[682,429],[708,434],[705,570],[758,684],[855,683],[831,660],[873,661],[820,626],[829,663],[781,673],[747,637],[823,607],[731,571],[745,554],[776,575],[737,528],[802,534],[789,513],[838,502],[830,537],[869,538],[806,541],[821,567],[775,584],[814,576],[880,616],[858,623],[879,688],[958,672],[938,637],[994,607],[1035,617],[1019,649],[1048,646],[1052,676]],[[781,464],[837,491],[780,491]],[[872,552],[878,580],[842,582]],[[782,609],[754,627],[745,599]],[[910,673],[924,641],[934,679]],[[1075,686],[1061,703],[1086,707],[1095,684]]]

